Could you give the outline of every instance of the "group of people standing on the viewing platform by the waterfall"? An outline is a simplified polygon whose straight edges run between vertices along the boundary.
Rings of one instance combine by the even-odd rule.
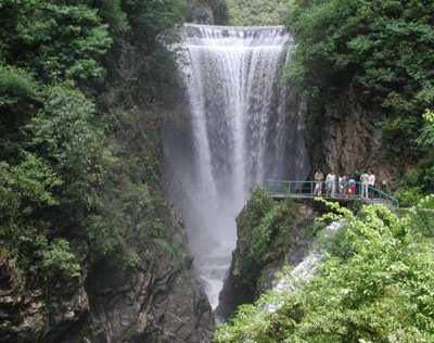
[[[314,180],[316,182],[314,195],[321,195],[322,185],[324,183],[326,195],[335,196],[339,194],[340,196],[352,196],[357,194],[367,199],[374,198],[375,175],[372,170],[363,170],[362,174],[356,170],[352,177],[348,177],[347,174],[336,177],[334,172],[330,170],[326,177],[326,182],[323,182],[324,175],[321,169],[318,169],[314,175]]]

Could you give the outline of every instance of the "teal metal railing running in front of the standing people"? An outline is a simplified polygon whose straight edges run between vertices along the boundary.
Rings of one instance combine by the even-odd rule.
[[[265,190],[269,194],[289,198],[315,198],[324,196],[332,199],[359,199],[367,203],[392,203],[399,207],[397,199],[387,193],[362,185],[362,182],[316,182],[316,181],[286,181],[286,180],[266,180]],[[365,192],[363,192],[365,190]],[[368,194],[367,194],[368,193]]]

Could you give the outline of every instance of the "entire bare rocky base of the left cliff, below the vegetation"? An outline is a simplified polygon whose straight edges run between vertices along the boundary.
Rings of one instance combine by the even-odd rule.
[[[56,284],[50,294],[26,290],[13,261],[3,258],[0,341],[209,342],[212,308],[174,208],[168,231],[170,240],[143,244],[137,270],[123,272],[106,261],[88,279],[85,271],[76,283]]]

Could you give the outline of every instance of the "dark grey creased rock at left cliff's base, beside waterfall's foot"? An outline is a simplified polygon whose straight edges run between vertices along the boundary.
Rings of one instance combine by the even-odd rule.
[[[91,288],[90,342],[209,342],[214,318],[192,269],[174,267],[170,253],[142,252],[125,279],[105,265]],[[191,265],[191,256],[184,256]],[[78,341],[77,341],[78,342]]]

